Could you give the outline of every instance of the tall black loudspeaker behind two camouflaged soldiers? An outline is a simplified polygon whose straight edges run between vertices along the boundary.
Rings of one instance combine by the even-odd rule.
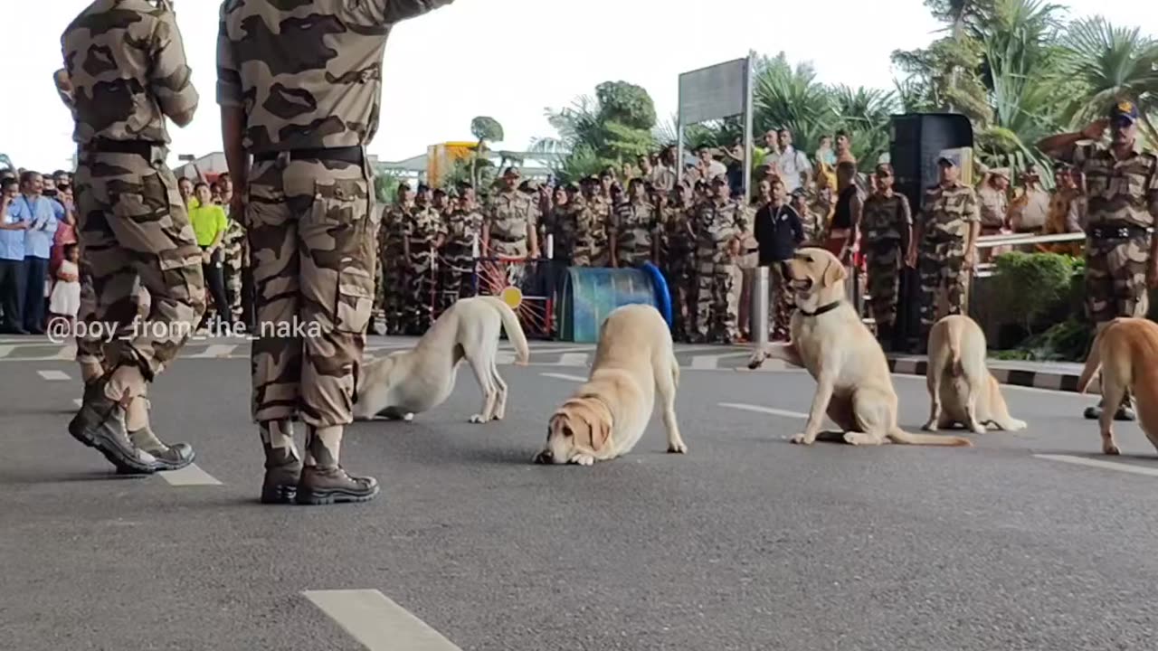
[[[973,125],[959,114],[906,114],[893,116],[889,160],[896,191],[909,199],[913,215],[921,211],[925,188],[938,183],[937,159],[945,149],[973,147]],[[906,242],[908,247],[908,242]],[[915,269],[901,273],[900,305],[893,348],[900,350],[921,337],[919,277]]]

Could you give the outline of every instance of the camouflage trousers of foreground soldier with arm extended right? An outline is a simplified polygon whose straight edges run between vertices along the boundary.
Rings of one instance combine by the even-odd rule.
[[[254,419],[349,424],[378,257],[369,168],[272,160],[249,177]]]

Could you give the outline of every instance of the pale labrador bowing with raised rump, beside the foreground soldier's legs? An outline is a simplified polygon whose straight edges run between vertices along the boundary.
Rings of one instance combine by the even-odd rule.
[[[494,297],[456,301],[418,339],[412,350],[391,352],[365,364],[358,374],[354,419],[382,415],[411,420],[415,414],[440,404],[454,390],[459,363],[470,364],[483,392],[483,409],[470,423],[501,419],[506,414],[507,386],[494,365],[499,332],[506,330],[520,364],[530,350],[519,317]]]

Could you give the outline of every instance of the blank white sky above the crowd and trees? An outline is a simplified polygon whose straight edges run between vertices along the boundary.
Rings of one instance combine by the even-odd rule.
[[[1100,13],[1158,35],[1149,2],[1056,0],[1072,17]],[[0,0],[8,89],[0,152],[19,167],[69,168],[68,111],[52,86],[59,35],[88,0]],[[220,151],[214,97],[218,0],[177,0],[178,22],[201,103],[189,127],[170,129],[176,154]],[[928,44],[938,24],[922,0],[456,0],[400,24],[386,50],[382,122],[369,151],[382,160],[427,145],[470,140],[470,119],[498,119],[523,149],[554,136],[543,117],[604,80],[638,83],[660,119],[675,111],[680,73],[745,57],[748,50],[811,60],[821,81],[892,88],[889,52]]]

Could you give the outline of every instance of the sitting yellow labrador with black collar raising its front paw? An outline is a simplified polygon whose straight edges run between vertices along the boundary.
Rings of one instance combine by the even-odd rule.
[[[804,248],[783,264],[796,295],[792,342],[755,351],[748,367],[757,368],[770,358],[782,359],[805,367],[816,380],[808,423],[792,442],[815,442],[827,414],[843,430],[841,440],[852,445],[881,445],[887,440],[908,445],[972,445],[966,438],[913,434],[897,426],[896,392],[888,360],[849,305],[844,291],[848,273],[835,255],[826,249]]]

